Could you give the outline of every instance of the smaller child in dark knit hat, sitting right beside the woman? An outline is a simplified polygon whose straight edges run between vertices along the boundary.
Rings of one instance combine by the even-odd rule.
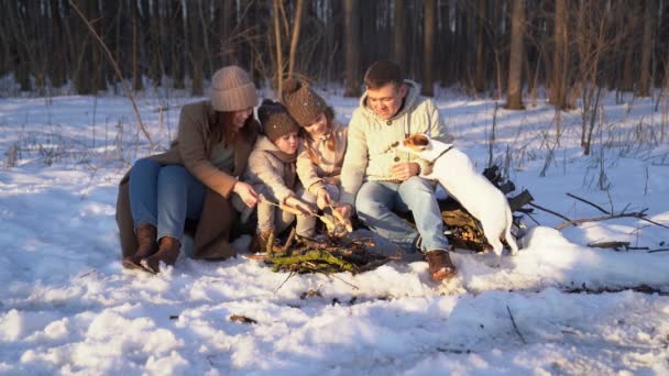
[[[250,251],[261,252],[274,234],[286,230],[297,217],[297,235],[305,236],[305,221],[310,223],[310,215],[295,215],[276,204],[285,204],[305,213],[315,209],[298,197],[304,189],[297,179],[295,162],[299,146],[299,126],[288,115],[283,104],[270,100],[263,101],[257,109],[263,135],[259,137],[249,156],[244,181],[251,184],[265,200],[257,203],[257,233]]]

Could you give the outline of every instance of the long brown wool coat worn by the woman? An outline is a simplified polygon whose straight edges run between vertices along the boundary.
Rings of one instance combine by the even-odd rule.
[[[260,130],[260,124],[253,122],[244,130],[248,132],[245,140],[238,136],[233,145],[234,168],[231,172],[222,172],[209,162],[211,150],[219,142],[211,128],[215,115],[216,112],[208,100],[184,106],[176,141],[165,153],[151,156],[162,165],[185,166],[208,188],[200,220],[195,228],[194,258],[224,259],[235,255],[229,237],[239,214],[230,203],[230,195],[237,183],[235,177],[246,167]],[[129,178],[130,172],[121,179],[117,199],[117,223],[123,257],[134,255],[138,247],[130,212]]]

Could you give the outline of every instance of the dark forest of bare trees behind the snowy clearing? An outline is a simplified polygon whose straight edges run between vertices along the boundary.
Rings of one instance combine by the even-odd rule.
[[[122,77],[199,96],[238,64],[259,86],[297,75],[359,96],[379,59],[424,95],[459,85],[507,108],[541,86],[562,109],[596,107],[602,88],[669,86],[669,0],[0,0],[0,77],[37,93],[69,82],[89,95]]]

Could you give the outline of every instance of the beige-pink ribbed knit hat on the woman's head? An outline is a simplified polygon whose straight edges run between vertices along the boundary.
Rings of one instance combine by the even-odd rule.
[[[211,106],[216,111],[241,111],[256,104],[255,85],[244,69],[231,65],[211,77]]]

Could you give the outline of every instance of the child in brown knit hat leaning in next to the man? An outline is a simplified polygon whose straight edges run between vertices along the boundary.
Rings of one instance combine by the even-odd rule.
[[[321,210],[331,208],[340,196],[348,128],[334,120],[332,108],[306,81],[284,82],[281,99],[301,126],[303,142],[297,156],[297,176],[305,188],[301,199]],[[314,237],[316,218],[306,218],[300,230],[301,235]]]

